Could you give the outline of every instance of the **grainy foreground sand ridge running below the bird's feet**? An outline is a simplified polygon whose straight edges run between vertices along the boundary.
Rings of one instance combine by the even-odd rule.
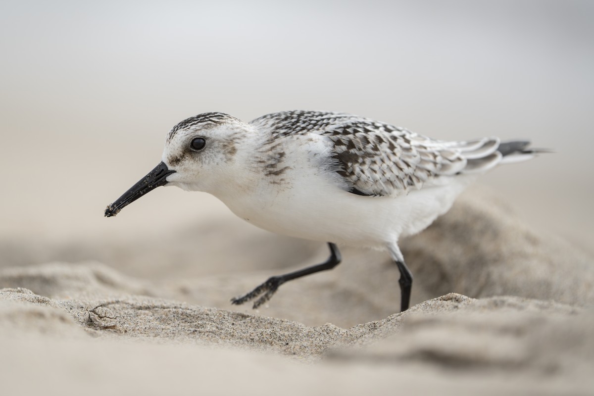
[[[2,289],[0,324],[11,394],[587,394],[593,384],[592,312],[520,297],[448,294],[343,329],[150,297]]]

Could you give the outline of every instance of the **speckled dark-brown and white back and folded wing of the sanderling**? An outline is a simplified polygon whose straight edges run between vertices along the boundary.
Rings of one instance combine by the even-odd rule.
[[[349,191],[396,196],[431,185],[440,176],[482,172],[501,160],[498,138],[446,142],[387,123],[344,113],[290,111],[252,121],[271,131],[271,140],[318,134],[333,144],[333,158]]]

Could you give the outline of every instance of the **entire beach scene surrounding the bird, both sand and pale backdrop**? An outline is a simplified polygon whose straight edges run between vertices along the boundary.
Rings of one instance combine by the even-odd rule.
[[[0,2],[1,395],[592,395],[590,1]],[[345,112],[552,151],[327,259],[166,186],[179,121]],[[328,241],[331,242],[331,241]]]

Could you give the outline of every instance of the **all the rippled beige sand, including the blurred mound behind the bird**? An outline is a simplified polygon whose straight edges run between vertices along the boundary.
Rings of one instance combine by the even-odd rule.
[[[264,308],[230,305],[327,255],[244,227],[4,241],[2,393],[592,394],[594,260],[489,191],[402,241],[403,313],[387,255],[354,248]]]

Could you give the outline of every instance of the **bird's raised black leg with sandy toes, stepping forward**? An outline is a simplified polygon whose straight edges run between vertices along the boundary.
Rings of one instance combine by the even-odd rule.
[[[332,268],[336,267],[340,264],[340,251],[338,250],[337,246],[334,243],[328,242],[328,247],[330,248],[330,257],[321,264],[312,265],[311,267],[304,268],[303,270],[295,271],[293,273],[285,274],[285,275],[277,275],[274,277],[268,278],[266,282],[261,284],[260,286],[256,287],[251,292],[244,294],[241,297],[233,297],[231,299],[231,303],[235,305],[243,304],[249,300],[253,300],[256,297],[261,297],[254,302],[254,309],[258,308],[263,303],[270,300],[270,297],[276,292],[280,285],[285,283],[286,281],[290,281],[296,278],[304,277],[305,275],[318,273],[320,271],[331,270]],[[406,267],[405,267],[406,268]],[[400,270],[402,272],[402,270]],[[410,273],[409,273],[410,274]],[[410,287],[409,287],[409,294],[410,294]]]

